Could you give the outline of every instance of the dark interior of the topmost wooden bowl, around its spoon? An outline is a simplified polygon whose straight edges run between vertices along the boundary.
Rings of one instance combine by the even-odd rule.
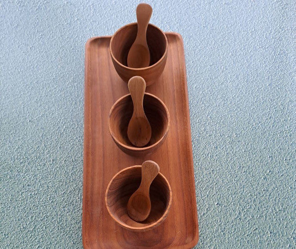
[[[138,32],[138,24],[132,23],[119,29],[113,36],[111,50],[121,64],[127,66],[128,53]],[[167,43],[165,34],[156,26],[149,24],[147,28],[147,44],[150,52],[149,66],[155,64],[164,55]]]

